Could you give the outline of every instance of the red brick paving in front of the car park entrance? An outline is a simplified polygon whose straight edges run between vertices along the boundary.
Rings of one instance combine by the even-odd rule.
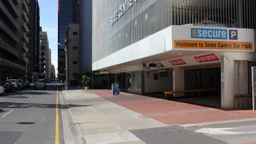
[[[85,92],[96,95],[126,107],[142,115],[155,115],[174,112],[187,112],[168,115],[148,116],[157,121],[171,125],[184,125],[213,121],[228,121],[246,118],[256,118],[256,111],[251,109],[222,109],[212,111],[199,111],[213,109],[211,106],[191,104],[188,102],[170,101],[159,98],[152,98],[142,95],[120,92],[119,96],[112,96],[111,90],[85,90]]]

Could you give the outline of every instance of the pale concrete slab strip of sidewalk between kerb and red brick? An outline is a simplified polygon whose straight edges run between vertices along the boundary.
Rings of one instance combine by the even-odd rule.
[[[87,144],[145,144],[128,130],[168,126],[128,108],[119,106],[94,93],[69,86],[62,93],[79,125]]]

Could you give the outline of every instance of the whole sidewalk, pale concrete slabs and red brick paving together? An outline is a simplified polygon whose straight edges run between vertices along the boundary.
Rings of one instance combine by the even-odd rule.
[[[75,117],[73,123],[81,128],[81,135],[87,144],[145,144],[148,139],[138,138],[138,134],[144,131],[184,131],[176,125],[194,127],[256,121],[256,111],[251,109],[219,109],[123,92],[112,96],[111,90],[81,90],[74,86],[69,86],[68,91],[64,89],[62,85],[62,93]],[[160,143],[162,136],[152,136],[156,136],[151,139],[157,139],[156,143],[166,143]],[[168,136],[166,139],[169,139]],[[191,140],[186,136],[182,139],[187,139],[186,143]],[[155,144],[152,141],[147,143]]]

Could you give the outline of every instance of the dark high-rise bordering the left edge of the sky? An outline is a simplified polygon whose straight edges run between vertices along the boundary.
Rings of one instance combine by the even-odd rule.
[[[25,0],[26,1],[26,0]],[[26,44],[28,47],[28,76],[32,76],[32,72],[37,74],[38,77],[42,76],[39,66],[39,61],[41,57],[39,56],[39,32],[40,32],[40,9],[38,0],[27,0],[28,1],[28,23],[26,23],[28,27],[28,43]],[[37,65],[37,66],[35,66]],[[32,80],[32,79],[29,79]],[[32,81],[30,81],[32,82]]]

